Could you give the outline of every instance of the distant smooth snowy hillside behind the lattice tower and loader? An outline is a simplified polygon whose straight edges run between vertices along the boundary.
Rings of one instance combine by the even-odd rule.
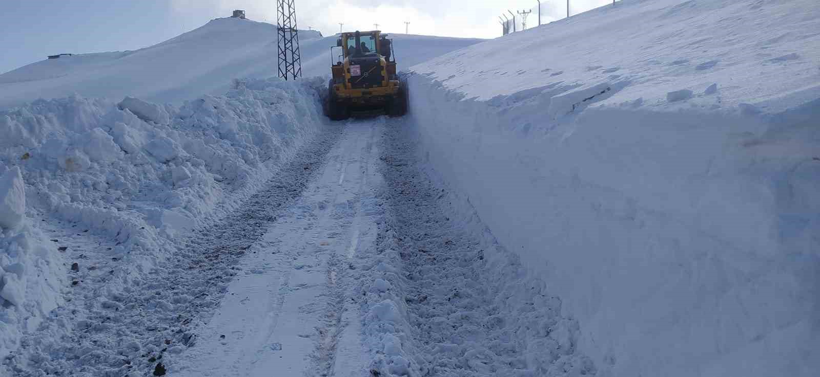
[[[330,74],[335,38],[300,31],[304,77]],[[394,35],[399,69],[480,41]],[[203,94],[222,94],[235,78],[271,76],[276,76],[276,26],[221,18],[137,51],[66,56],[0,74],[0,109],[74,93],[180,104]]]

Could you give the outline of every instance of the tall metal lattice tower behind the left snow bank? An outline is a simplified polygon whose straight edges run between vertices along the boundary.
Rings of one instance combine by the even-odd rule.
[[[302,76],[295,2],[296,0],[276,0],[276,61],[279,63],[279,77],[285,80]]]

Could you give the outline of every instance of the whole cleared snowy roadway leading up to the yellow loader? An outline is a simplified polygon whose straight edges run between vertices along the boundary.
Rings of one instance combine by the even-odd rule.
[[[45,325],[18,375],[593,375],[578,326],[403,119],[331,124],[152,281]]]

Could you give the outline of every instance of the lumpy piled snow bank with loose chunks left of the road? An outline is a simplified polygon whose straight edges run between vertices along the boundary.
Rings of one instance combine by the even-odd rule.
[[[62,268],[56,246],[40,247],[25,211],[116,240],[101,258],[148,272],[173,253],[180,232],[234,208],[324,123],[324,80],[235,85],[180,107],[74,96],[0,111],[0,296],[14,305],[0,307],[0,354],[21,330],[16,307],[48,312],[57,276],[66,275],[52,271]]]

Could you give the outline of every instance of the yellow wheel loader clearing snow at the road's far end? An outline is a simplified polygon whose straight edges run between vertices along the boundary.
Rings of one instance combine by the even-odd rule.
[[[340,50],[340,51],[339,51]],[[325,114],[348,119],[353,112],[407,112],[407,86],[396,73],[393,40],[379,30],[341,33],[330,47],[330,71]]]

